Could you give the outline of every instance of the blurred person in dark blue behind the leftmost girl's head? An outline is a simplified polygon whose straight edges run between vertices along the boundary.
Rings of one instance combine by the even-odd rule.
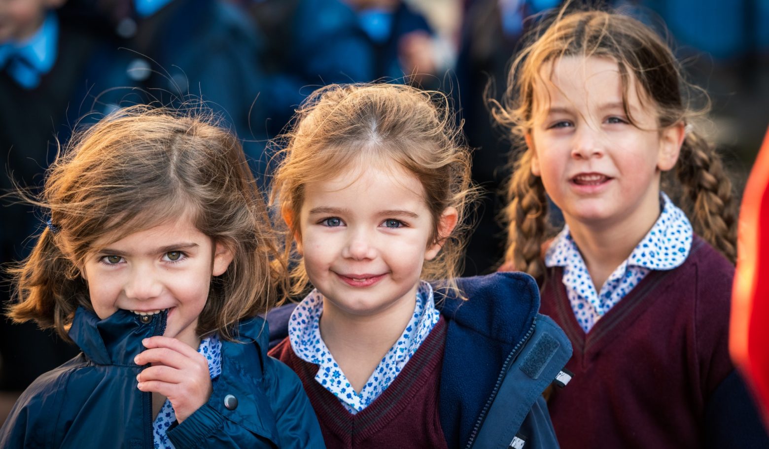
[[[73,2],[82,26],[120,42],[123,70],[141,86],[132,101],[205,101],[241,138],[257,181],[265,182],[265,42],[242,8],[220,0]]]

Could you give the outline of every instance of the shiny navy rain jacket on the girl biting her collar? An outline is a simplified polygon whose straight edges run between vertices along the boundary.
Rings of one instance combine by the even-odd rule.
[[[27,388],[0,429],[0,447],[155,447],[151,394],[136,387],[145,367],[133,358],[143,338],[165,330],[165,314],[145,324],[130,311],[99,320],[78,308],[69,335],[83,352]],[[244,343],[221,342],[208,403],[172,425],[168,438],[177,449],[325,447],[298,377],[267,356],[265,321],[243,321],[238,331]]]

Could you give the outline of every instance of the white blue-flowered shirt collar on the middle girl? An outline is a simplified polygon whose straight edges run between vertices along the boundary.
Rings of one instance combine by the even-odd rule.
[[[403,334],[384,354],[362,390],[356,392],[321,338],[319,324],[322,313],[323,295],[313,290],[291,313],[288,340],[298,358],[318,364],[315,381],[334,394],[351,414],[368,407],[392,384],[441,318],[435,308],[431,285],[420,282],[414,314]]]

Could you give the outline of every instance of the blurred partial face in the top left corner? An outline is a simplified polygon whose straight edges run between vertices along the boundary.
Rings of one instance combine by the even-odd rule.
[[[45,18],[45,12],[64,0],[0,0],[0,42],[32,37]]]

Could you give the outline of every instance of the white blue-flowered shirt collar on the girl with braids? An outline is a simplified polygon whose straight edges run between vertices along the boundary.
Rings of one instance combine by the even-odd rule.
[[[571,238],[568,225],[558,234],[544,257],[547,267],[563,267],[571,309],[586,333],[624,298],[651,270],[672,270],[684,263],[691,249],[691,223],[684,211],[661,193],[662,212],[627,260],[596,291],[588,267]]]

